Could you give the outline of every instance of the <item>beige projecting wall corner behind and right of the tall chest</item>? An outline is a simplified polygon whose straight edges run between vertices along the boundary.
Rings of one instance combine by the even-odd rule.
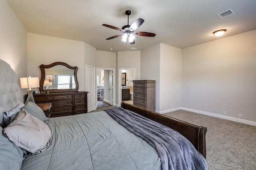
[[[156,80],[156,112],[181,107],[182,49],[162,43],[141,51],[141,80]]]

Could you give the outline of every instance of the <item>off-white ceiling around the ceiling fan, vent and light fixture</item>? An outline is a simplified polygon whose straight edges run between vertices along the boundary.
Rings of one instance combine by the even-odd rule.
[[[190,47],[256,29],[256,0],[7,0],[26,30],[58,38],[86,42],[98,50],[141,50],[157,43],[178,48]],[[232,9],[235,14],[217,16]],[[122,32],[102,26],[122,28],[144,23],[136,31],[152,32],[155,37],[136,36],[135,44],[122,37],[106,40]],[[222,37],[212,34],[226,29]]]

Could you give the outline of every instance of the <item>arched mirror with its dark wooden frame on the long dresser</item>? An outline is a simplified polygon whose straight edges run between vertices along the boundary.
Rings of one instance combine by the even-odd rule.
[[[40,65],[41,79],[40,91],[69,92],[78,91],[77,70],[63,62],[55,62],[50,65]]]

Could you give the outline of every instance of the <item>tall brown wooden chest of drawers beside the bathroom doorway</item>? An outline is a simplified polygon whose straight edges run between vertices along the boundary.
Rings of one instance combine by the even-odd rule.
[[[133,80],[134,105],[155,111],[155,89],[155,80]]]

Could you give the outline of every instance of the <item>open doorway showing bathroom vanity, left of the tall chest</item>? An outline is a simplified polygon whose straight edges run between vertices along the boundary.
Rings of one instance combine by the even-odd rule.
[[[119,101],[133,105],[133,80],[135,80],[135,68],[119,69]],[[125,82],[125,83],[124,83]]]

